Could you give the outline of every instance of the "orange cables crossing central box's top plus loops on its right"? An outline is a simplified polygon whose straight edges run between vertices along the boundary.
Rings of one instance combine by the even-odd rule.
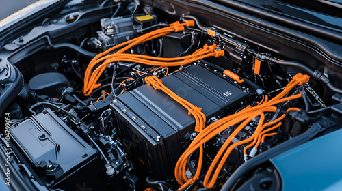
[[[250,156],[254,156],[254,154],[257,152],[257,147],[259,147],[259,144],[261,143],[261,141],[262,142],[264,141],[265,136],[273,136],[274,134],[276,134],[276,133],[269,133],[269,134],[266,134],[266,133],[281,126],[282,123],[280,121],[286,117],[286,114],[283,114],[281,117],[278,117],[274,121],[264,123],[265,122],[264,113],[276,112],[276,107],[274,106],[275,104],[286,102],[287,100],[300,98],[302,96],[300,93],[297,95],[292,95],[287,98],[282,98],[282,97],[285,96],[287,92],[291,91],[291,89],[293,89],[293,87],[295,87],[296,85],[302,85],[303,83],[308,82],[309,76],[303,75],[300,73],[296,74],[295,76],[293,76],[293,80],[291,80],[291,82],[285,87],[285,89],[281,93],[276,95],[276,97],[274,97],[272,100],[268,100],[268,97],[266,95],[263,97],[263,100],[261,100],[261,102],[257,106],[254,106],[254,107],[248,106],[247,108],[244,108],[243,110],[239,111],[236,114],[229,115],[228,117],[224,117],[223,119],[220,119],[216,121],[215,123],[212,123],[211,125],[207,126],[207,128],[205,128],[206,118],[205,118],[205,115],[200,111],[201,108],[194,106],[193,104],[181,98],[179,95],[176,95],[176,93],[172,92],[170,89],[168,89],[168,87],[163,85],[162,81],[156,76],[148,76],[148,77],[145,77],[144,79],[148,85],[154,87],[157,90],[163,91],[164,93],[169,95],[170,98],[173,98],[174,100],[176,100],[176,102],[179,102],[179,104],[187,108],[187,110],[189,111],[188,114],[193,115],[196,120],[195,131],[199,132],[199,134],[196,136],[194,141],[192,141],[192,143],[189,145],[188,149],[183,153],[181,158],[179,158],[176,164],[175,171],[174,171],[176,181],[178,181],[179,184],[181,184],[181,188],[179,188],[179,190],[182,190],[183,188],[186,188],[190,184],[194,183],[200,177],[200,170],[202,168],[202,160],[203,160],[203,144],[209,141],[214,136],[216,136],[222,130],[225,130],[226,127],[228,126],[234,126],[235,124],[243,121],[236,128],[236,130],[231,134],[231,136],[227,138],[224,145],[222,145],[222,147],[220,148],[220,151],[215,156],[213,162],[211,163],[207,171],[207,174],[205,175],[203,185],[206,188],[211,188],[214,186],[215,181],[218,178],[218,175],[222,169],[222,166],[224,165],[229,154],[231,153],[231,151],[233,151],[235,147],[239,145],[244,145],[252,141],[252,143],[244,147],[244,158],[245,160],[248,159],[247,149],[249,147],[252,147],[253,145],[255,146],[250,152]],[[298,111],[299,109],[289,108],[287,111],[293,111],[293,110]],[[250,136],[249,138],[246,138],[245,140],[234,143],[233,145],[228,147],[228,145],[231,143],[231,141],[237,135],[237,133],[240,132],[248,123],[250,123],[252,119],[258,116],[260,116],[260,120],[259,120],[259,124],[254,134],[252,134],[252,136]],[[268,128],[267,130],[264,130],[265,128],[269,126],[272,126],[272,127]],[[228,149],[226,150],[227,147]],[[188,167],[187,160],[189,156],[191,156],[192,153],[196,151],[198,148],[200,149],[200,155],[198,158],[198,166],[197,166],[196,173],[195,175],[192,176],[192,179],[187,179],[187,175],[185,174],[185,172],[187,171],[187,167]],[[224,155],[222,156],[223,153]],[[220,163],[218,164],[219,160],[220,160]],[[213,177],[211,177],[211,174],[214,169],[215,169],[215,173],[213,174]],[[209,181],[210,177],[211,177],[211,181]],[[185,181],[185,183],[183,183],[183,181]]]

